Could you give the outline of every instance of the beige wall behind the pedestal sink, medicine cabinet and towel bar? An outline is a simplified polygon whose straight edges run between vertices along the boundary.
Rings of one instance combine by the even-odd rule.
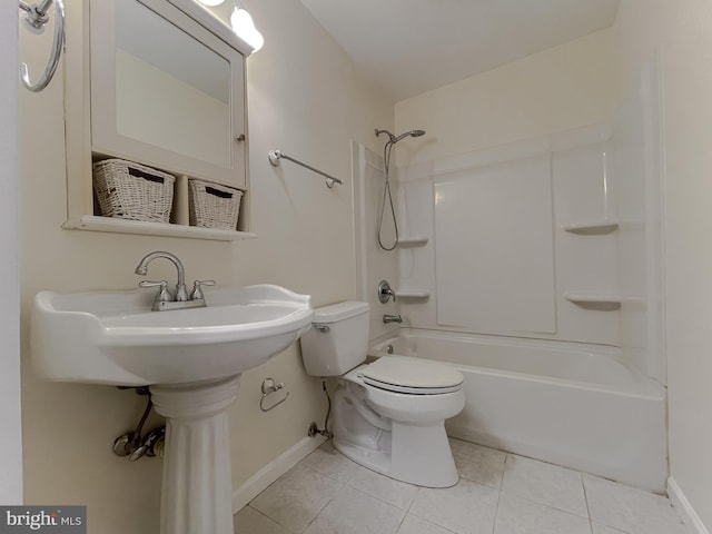
[[[79,0],[67,3],[69,16]],[[231,3],[231,2],[227,2]],[[134,267],[155,249],[176,253],[189,278],[220,284],[275,283],[310,294],[315,305],[355,296],[350,141],[377,149],[373,128],[393,127],[393,102],[374,90],[297,0],[245,2],[265,34],[247,60],[250,196],[255,240],[235,244],[68,231],[62,123],[62,73],[40,95],[21,92],[22,402],[28,504],[88,505],[91,532],[158,531],[160,462],[129,463],[111,452],[142,409],[131,392],[38,380],[28,349],[29,312],[41,289],[132,288]],[[41,68],[47,42],[21,36],[21,53]],[[67,90],[72,80],[65,80]],[[344,178],[327,189],[320,177],[288,161],[279,148]],[[167,264],[167,263],[166,263]],[[151,277],[175,277],[169,265]],[[259,386],[287,383],[289,402],[268,414]],[[318,382],[306,377],[296,347],[246,373],[233,422],[236,485],[323,422]]]

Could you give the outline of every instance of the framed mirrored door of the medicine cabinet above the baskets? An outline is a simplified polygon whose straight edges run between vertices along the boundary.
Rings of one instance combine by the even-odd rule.
[[[245,58],[234,33],[192,0],[90,8],[93,159],[246,189]]]

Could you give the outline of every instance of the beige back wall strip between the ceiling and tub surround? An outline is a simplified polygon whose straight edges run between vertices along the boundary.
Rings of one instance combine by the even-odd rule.
[[[432,161],[601,122],[614,103],[611,30],[396,103],[398,165]]]

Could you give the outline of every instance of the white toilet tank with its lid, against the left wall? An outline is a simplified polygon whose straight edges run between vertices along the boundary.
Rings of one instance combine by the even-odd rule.
[[[312,328],[300,338],[308,375],[339,376],[366,359],[368,303],[348,300],[314,310]]]

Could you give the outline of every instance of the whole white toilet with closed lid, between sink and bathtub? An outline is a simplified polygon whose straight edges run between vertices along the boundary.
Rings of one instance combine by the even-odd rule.
[[[398,481],[428,487],[457,484],[444,423],[465,405],[463,375],[405,356],[364,364],[367,348],[367,303],[315,309],[314,324],[301,336],[307,373],[340,376],[334,394],[334,446]]]

